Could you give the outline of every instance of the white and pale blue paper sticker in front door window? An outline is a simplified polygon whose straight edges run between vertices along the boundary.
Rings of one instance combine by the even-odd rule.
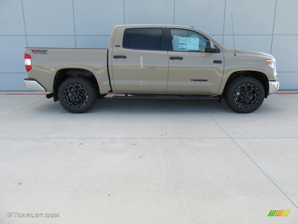
[[[173,50],[199,50],[199,37],[173,36]]]

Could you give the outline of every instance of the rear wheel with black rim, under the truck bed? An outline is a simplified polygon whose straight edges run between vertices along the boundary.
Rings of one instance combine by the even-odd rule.
[[[83,77],[70,77],[59,87],[58,98],[62,107],[71,113],[84,113],[95,104],[94,85]]]

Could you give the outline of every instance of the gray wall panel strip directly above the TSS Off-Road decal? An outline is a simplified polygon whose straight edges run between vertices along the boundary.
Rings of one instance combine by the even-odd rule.
[[[75,48],[75,36],[27,36],[28,47]]]

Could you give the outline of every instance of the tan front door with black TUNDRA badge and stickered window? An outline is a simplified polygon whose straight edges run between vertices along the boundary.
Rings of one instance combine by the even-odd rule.
[[[195,30],[166,29],[169,56],[166,93],[216,94],[224,73],[221,49],[205,51],[209,39]]]

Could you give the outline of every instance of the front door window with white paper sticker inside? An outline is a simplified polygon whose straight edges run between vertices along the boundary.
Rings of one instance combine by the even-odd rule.
[[[207,38],[191,30],[171,29],[173,51],[205,52]]]

